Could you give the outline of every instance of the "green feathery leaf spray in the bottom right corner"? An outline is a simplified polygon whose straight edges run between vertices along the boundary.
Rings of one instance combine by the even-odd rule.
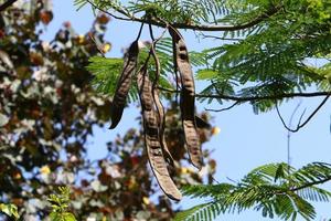
[[[242,212],[246,209],[260,211],[263,217],[296,220],[316,218],[309,201],[329,201],[331,192],[317,187],[331,180],[331,165],[309,164],[298,170],[287,164],[260,166],[238,183],[214,186],[188,186],[185,196],[207,198],[209,202],[179,212],[174,220],[214,220],[225,212]]]

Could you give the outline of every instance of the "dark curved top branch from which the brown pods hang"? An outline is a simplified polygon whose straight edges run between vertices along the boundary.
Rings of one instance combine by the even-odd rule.
[[[122,9],[113,8],[116,12],[118,12],[122,15],[122,17],[118,17],[105,9],[99,8],[97,4],[95,4],[90,0],[86,0],[86,1],[94,8],[98,9],[99,11],[102,11],[115,19],[118,19],[118,20],[136,21],[136,22],[152,24],[152,25],[161,27],[161,28],[167,27],[167,24],[161,19],[158,19],[158,18],[156,18],[157,20],[142,19],[142,18],[138,18],[132,14],[129,14],[128,12],[124,11]],[[171,27],[173,27],[175,29],[190,29],[190,30],[194,30],[194,31],[237,31],[237,30],[248,29],[248,28],[252,28],[252,27],[260,23],[265,19],[276,14],[280,9],[281,9],[281,6],[273,7],[270,10],[256,17],[252,21],[243,23],[243,24],[236,24],[236,25],[205,25],[205,24],[170,23],[170,22],[169,22],[169,24],[171,24]],[[161,22],[159,22],[158,20],[160,20]]]

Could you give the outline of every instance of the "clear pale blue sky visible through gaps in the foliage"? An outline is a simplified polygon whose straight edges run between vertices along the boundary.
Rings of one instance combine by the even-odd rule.
[[[54,20],[47,27],[44,39],[51,39],[64,21],[71,21],[77,33],[85,33],[92,24],[93,13],[89,7],[85,7],[78,12],[73,6],[73,1],[54,1]],[[107,56],[121,56],[121,49],[129,45],[135,40],[135,33],[139,30],[139,24],[132,22],[118,22],[113,20],[108,25],[106,39],[111,42],[113,50]],[[185,32],[184,36],[190,50],[199,51],[206,46],[215,45],[213,40],[197,41],[194,32]],[[147,33],[142,39],[148,39]],[[197,83],[197,91],[203,87],[203,83]],[[299,113],[307,108],[306,113],[313,110],[320,103],[320,98],[301,99]],[[292,110],[300,99],[293,99],[280,107],[280,110],[288,122]],[[225,104],[226,105],[226,104]],[[211,105],[197,103],[197,108],[220,108],[218,104]],[[103,128],[95,129],[95,136],[90,138],[88,150],[90,158],[102,158],[106,155],[105,143],[122,134],[132,125],[137,125],[135,117],[139,110],[127,108],[124,118],[115,130]],[[287,130],[281,125],[276,112],[255,115],[252,106],[242,105],[228,112],[211,113],[214,116],[214,125],[221,128],[221,133],[214,136],[203,148],[214,149],[213,158],[217,160],[218,181],[239,180],[249,170],[257,166],[280,162],[287,160]],[[331,161],[330,155],[330,102],[323,106],[318,115],[299,133],[291,135],[291,165],[301,167],[312,161]],[[293,120],[296,125],[296,120]],[[331,189],[330,185],[325,185]],[[190,200],[184,198],[181,207],[188,208],[201,200]],[[330,203],[316,203],[317,219],[324,220],[331,218]],[[225,214],[217,220],[269,220],[261,218],[259,212],[246,211],[241,214]],[[274,219],[277,220],[277,219]],[[299,220],[299,219],[298,219]]]

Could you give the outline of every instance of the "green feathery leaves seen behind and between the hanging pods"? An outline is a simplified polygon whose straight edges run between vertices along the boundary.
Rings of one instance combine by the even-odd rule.
[[[173,69],[171,39],[161,39],[157,44],[156,51],[160,60],[159,86],[164,90],[175,90],[175,73]],[[142,49],[139,53],[138,66],[143,65],[148,57],[148,53],[149,49]],[[206,57],[201,53],[190,52],[190,59],[193,66],[197,67],[206,64]],[[109,96],[115,94],[116,83],[122,71],[122,63],[124,60],[118,57],[93,56],[89,59],[89,64],[86,69],[94,75],[92,86],[97,93]],[[153,80],[156,74],[156,64],[152,59],[149,60],[149,74]],[[136,81],[134,81],[129,91],[128,102],[136,102],[138,97]]]

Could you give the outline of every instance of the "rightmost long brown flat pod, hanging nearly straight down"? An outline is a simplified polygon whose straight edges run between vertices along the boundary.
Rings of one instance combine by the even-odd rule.
[[[169,32],[173,41],[173,56],[181,78],[181,99],[180,107],[182,113],[182,122],[185,134],[186,147],[191,162],[197,169],[202,167],[202,150],[199,134],[195,125],[195,105],[194,105],[194,78],[191,64],[189,62],[189,53],[183,36],[173,28],[169,28]]]

